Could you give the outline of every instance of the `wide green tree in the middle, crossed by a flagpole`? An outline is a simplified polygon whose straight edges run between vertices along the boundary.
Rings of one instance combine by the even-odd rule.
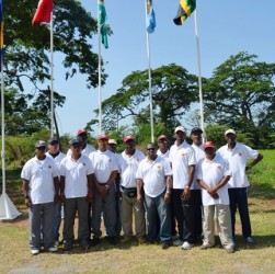
[[[151,76],[154,123],[173,128],[198,98],[197,78],[175,64],[157,68]],[[149,123],[148,90],[147,70],[127,76],[122,88],[102,103],[104,128],[115,128],[127,117],[135,117],[136,125]]]

